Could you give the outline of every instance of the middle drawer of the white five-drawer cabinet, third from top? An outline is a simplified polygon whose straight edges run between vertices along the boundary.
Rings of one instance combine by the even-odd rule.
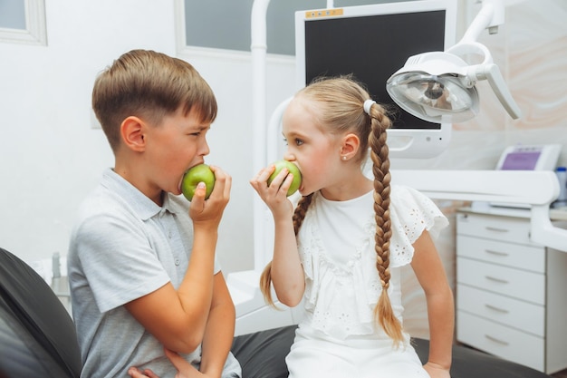
[[[457,257],[456,277],[460,284],[545,305],[545,276],[539,273]]]

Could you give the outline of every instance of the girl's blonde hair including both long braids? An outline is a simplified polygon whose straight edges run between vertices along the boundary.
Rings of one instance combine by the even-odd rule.
[[[387,111],[379,103],[370,107],[367,114],[363,105],[370,99],[364,87],[355,82],[350,76],[337,78],[322,78],[312,82],[295,95],[296,98],[306,99],[317,103],[321,112],[319,126],[332,133],[352,132],[360,138],[358,159],[360,164],[366,161],[370,146],[372,173],[374,175],[374,211],[376,213],[376,268],[380,276],[382,290],[378,304],[374,309],[377,323],[391,337],[395,344],[402,342],[402,326],[389,301],[389,239],[391,237],[391,220],[389,217],[389,150],[386,144],[386,130],[391,122]],[[297,235],[303,223],[303,218],[312,201],[312,194],[303,197],[293,214],[293,228]],[[274,305],[271,296],[272,263],[265,268],[260,278],[260,288],[266,302]]]

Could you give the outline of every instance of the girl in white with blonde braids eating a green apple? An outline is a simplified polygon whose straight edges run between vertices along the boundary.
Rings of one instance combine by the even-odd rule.
[[[285,159],[302,172],[302,199],[286,198],[292,175],[274,166],[251,184],[274,217],[274,258],[261,286],[305,315],[286,363],[290,377],[449,377],[453,295],[431,236],[447,218],[418,191],[390,186],[385,110],[349,77],[298,92],[283,114]],[[362,170],[370,147],[374,179]],[[421,365],[402,329],[399,267],[410,264],[428,303],[430,351]]]

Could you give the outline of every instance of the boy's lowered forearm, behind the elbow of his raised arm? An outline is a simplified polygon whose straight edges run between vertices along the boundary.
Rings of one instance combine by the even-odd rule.
[[[235,305],[222,272],[215,275],[213,301],[201,349],[201,373],[220,377],[235,334]]]

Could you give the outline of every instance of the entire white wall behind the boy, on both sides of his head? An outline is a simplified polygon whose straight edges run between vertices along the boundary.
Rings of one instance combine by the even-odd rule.
[[[45,9],[47,46],[0,43],[0,247],[29,262],[53,252],[66,255],[76,208],[113,165],[102,131],[91,127],[96,74],[133,48],[176,54],[174,0],[45,0]],[[218,254],[226,272],[250,269],[249,56],[189,53],[187,60],[219,102],[208,161],[234,177]],[[293,66],[275,70],[272,107],[277,92],[284,98],[293,84],[285,79]]]

